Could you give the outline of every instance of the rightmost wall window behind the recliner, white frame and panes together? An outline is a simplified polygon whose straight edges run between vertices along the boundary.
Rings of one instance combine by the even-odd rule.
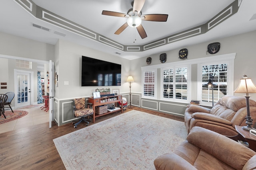
[[[233,95],[235,56],[236,53],[214,56],[198,64],[197,100],[201,105],[212,106],[223,96]],[[209,79],[213,86],[207,85]]]

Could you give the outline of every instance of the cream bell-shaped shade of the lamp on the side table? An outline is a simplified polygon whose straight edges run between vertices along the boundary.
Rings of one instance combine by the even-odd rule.
[[[251,78],[241,78],[238,88],[234,91],[235,93],[246,93],[246,96],[249,93],[256,93],[256,86],[253,84]]]

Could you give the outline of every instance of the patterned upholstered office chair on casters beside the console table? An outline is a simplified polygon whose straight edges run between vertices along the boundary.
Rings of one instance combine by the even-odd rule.
[[[72,124],[74,125],[74,128],[76,128],[76,126],[82,121],[86,122],[87,123],[86,126],[88,126],[89,121],[92,121],[92,117],[89,118],[89,116],[93,115],[93,109],[89,108],[90,104],[89,103],[87,104],[88,108],[85,107],[86,106],[85,98],[74,99],[73,102],[74,102],[74,106],[73,106],[74,116],[76,118],[80,118],[80,121],[78,121],[77,123],[72,122]]]

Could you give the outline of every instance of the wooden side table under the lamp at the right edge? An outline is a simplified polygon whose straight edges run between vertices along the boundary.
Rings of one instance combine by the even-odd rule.
[[[251,135],[249,131],[242,129],[242,126],[236,126],[236,131],[249,143],[249,148],[256,152],[256,136]]]

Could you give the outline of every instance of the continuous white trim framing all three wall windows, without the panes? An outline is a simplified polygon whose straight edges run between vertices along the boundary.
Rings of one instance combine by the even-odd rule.
[[[162,64],[156,64],[156,65],[152,65],[152,66],[142,66],[141,70],[142,70],[142,98],[148,98],[150,99],[149,96],[144,96],[144,71],[152,71],[155,70],[155,96],[154,98],[151,99],[156,99],[156,100],[162,100],[162,101],[168,101],[168,102],[179,102],[179,103],[187,103],[190,104],[190,101],[192,99],[192,84],[193,87],[197,86],[195,88],[197,88],[197,93],[196,96],[193,96],[193,100],[202,100],[202,65],[204,64],[214,64],[214,63],[218,63],[220,61],[228,61],[228,91],[227,94],[233,95],[233,91],[234,91],[234,59],[236,57],[236,53],[230,53],[230,54],[224,54],[224,55],[215,55],[215,56],[211,56],[211,57],[202,57],[202,58],[198,58],[198,59],[191,59],[191,60],[182,60],[182,61],[177,61],[177,62],[172,62],[172,63],[162,63]],[[194,73],[197,75],[197,82],[193,82],[191,80],[191,68],[192,68],[192,64],[197,64],[197,73]],[[163,94],[164,94],[164,89],[163,89],[163,69],[164,68],[169,68],[169,67],[184,67],[187,66],[188,67],[188,80],[187,80],[187,100],[184,99],[176,99],[176,98],[164,98]],[[157,69],[160,69],[160,74],[158,74]],[[158,76],[161,76],[160,79],[157,78]],[[157,89],[157,84],[158,86],[160,86],[161,88],[158,90]],[[195,90],[195,89],[194,89]],[[159,95],[160,93],[160,95]],[[202,102],[200,103],[201,105],[204,106],[212,106],[212,102]]]

